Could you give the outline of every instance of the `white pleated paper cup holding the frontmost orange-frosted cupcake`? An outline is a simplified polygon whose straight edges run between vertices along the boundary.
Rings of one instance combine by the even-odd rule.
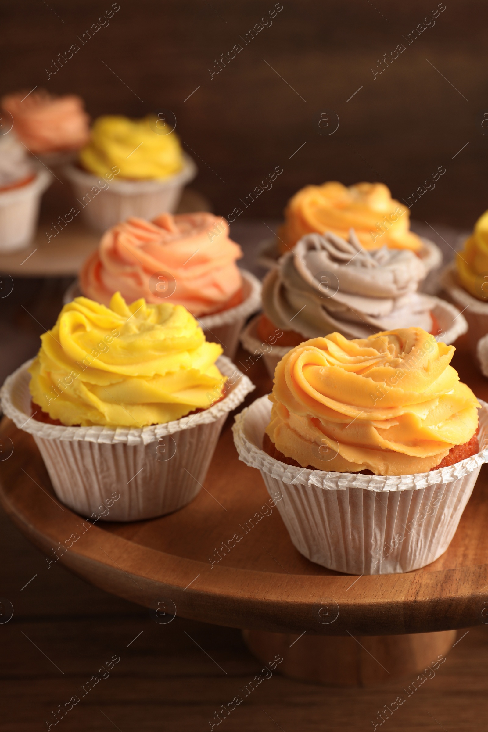
[[[296,468],[261,449],[268,397],[236,417],[234,442],[258,468],[301,554],[351,575],[410,572],[443,554],[457,529],[481,465],[488,459],[488,404],[479,411],[481,450],[447,468],[400,476],[368,476]]]

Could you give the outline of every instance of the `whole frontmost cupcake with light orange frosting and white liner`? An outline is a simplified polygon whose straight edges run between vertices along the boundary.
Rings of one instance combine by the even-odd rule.
[[[385,574],[446,550],[488,456],[488,405],[459,382],[453,354],[421,328],[314,338],[236,418],[241,460],[281,491],[308,559]]]

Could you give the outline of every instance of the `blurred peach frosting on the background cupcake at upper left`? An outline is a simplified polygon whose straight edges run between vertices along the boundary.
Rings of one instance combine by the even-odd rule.
[[[89,116],[75,94],[18,91],[2,97],[1,107],[12,115],[14,130],[30,152],[76,150],[89,140]]]

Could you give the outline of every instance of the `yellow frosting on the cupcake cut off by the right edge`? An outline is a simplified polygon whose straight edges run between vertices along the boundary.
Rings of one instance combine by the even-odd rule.
[[[479,300],[488,300],[488,211],[478,218],[465,247],[456,255],[459,281]]]

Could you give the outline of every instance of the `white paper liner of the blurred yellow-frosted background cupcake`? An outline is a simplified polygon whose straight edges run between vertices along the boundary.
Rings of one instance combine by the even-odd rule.
[[[184,154],[184,168],[168,179],[132,181],[114,176],[108,182],[103,176],[87,173],[75,165],[66,165],[63,172],[75,190],[78,203],[83,206],[81,214],[87,223],[97,231],[105,232],[131,216],[151,221],[164,212],[173,213],[184,186],[195,178],[198,170],[191,157]],[[104,190],[102,185],[108,187]],[[92,187],[99,193],[89,193]]]

